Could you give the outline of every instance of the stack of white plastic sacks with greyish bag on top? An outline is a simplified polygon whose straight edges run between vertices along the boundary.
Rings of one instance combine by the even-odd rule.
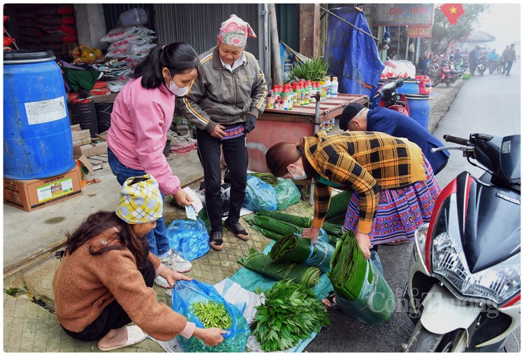
[[[156,36],[154,31],[144,25],[147,24],[147,14],[142,8],[133,8],[120,14],[119,27],[115,27],[101,38],[101,42],[108,43],[108,52],[105,58],[124,59],[135,65],[140,63],[156,45],[153,43]]]

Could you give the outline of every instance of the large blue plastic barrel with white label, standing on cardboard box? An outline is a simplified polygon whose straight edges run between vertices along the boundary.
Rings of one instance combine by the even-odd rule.
[[[3,177],[41,179],[74,166],[64,80],[52,51],[4,51]]]

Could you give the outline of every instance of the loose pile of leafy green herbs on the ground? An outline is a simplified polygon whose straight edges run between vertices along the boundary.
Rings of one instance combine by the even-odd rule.
[[[256,306],[252,334],[265,352],[292,348],[312,332],[318,333],[321,327],[330,325],[326,307],[311,288],[289,280],[279,281],[264,295],[264,303]]]

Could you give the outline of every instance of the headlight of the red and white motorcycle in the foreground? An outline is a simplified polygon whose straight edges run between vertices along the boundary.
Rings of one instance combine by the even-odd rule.
[[[449,216],[457,216],[456,195],[450,196]],[[471,273],[460,241],[458,221],[440,214],[432,238],[432,273],[442,276],[461,295],[502,304],[521,290],[521,254]]]

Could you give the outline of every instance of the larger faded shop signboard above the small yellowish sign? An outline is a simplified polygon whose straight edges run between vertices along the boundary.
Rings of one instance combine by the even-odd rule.
[[[430,26],[435,6],[432,3],[379,3],[373,12],[373,26]]]

